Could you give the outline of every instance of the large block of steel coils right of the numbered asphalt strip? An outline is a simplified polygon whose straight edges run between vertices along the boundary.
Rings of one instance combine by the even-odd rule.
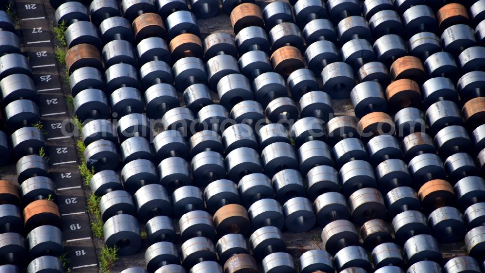
[[[381,1],[365,3],[372,2]],[[256,272],[256,260],[265,273],[293,272],[281,230],[303,232],[318,222],[327,252],[304,254],[302,272],[331,272],[334,266],[339,272],[370,272],[370,260],[376,269],[402,272],[400,246],[409,272],[440,272],[437,240],[461,241],[467,227],[469,238],[484,233],[485,182],[470,149],[484,148],[485,128],[478,126],[483,102],[474,98],[484,78],[483,72],[469,72],[481,66],[483,48],[475,46],[473,31],[463,31],[471,21],[454,14],[438,16],[438,23],[426,6],[382,1],[364,5],[368,23],[359,17],[358,2],[325,6],[300,0],[294,3],[295,24],[286,3],[268,4],[262,12],[244,3],[231,14],[235,41],[217,33],[202,42],[194,15],[163,4],[123,1],[121,12],[116,1],[93,1],[92,23],[77,2],[56,11],[58,22],[69,25],[66,63],[75,111],[85,121],[86,162],[97,172],[90,187],[102,196],[105,241],[121,255],[140,248],[141,222],[150,242],[149,272],[222,272],[217,260],[225,272]],[[371,19],[379,12],[395,16],[379,24]],[[339,22],[339,15],[346,18]],[[456,24],[457,18],[466,24]],[[396,27],[386,28],[391,23]],[[440,29],[449,34],[441,41]],[[416,57],[407,56],[404,33],[411,38],[409,49],[418,48],[409,50]],[[468,55],[456,62],[453,56],[461,51]],[[322,74],[325,92],[315,74]],[[428,76],[436,78],[426,81]],[[210,89],[217,90],[220,104],[212,104]],[[177,91],[183,91],[186,107],[178,107]],[[330,119],[331,98],[349,96],[360,121]],[[457,103],[466,100],[465,124]],[[394,119],[386,111],[397,112]],[[164,131],[152,141],[154,119]],[[287,127],[281,120],[293,122]],[[434,140],[419,133],[426,125]],[[396,136],[390,136],[394,128]],[[180,218],[179,235],[169,216]],[[362,225],[364,248],[348,219]],[[392,220],[396,239],[384,220]],[[249,235],[254,257],[244,239]],[[481,260],[484,242],[466,241],[470,255]],[[480,272],[471,257],[453,259],[445,271],[462,272],[460,265]],[[135,270],[145,272],[127,272]]]

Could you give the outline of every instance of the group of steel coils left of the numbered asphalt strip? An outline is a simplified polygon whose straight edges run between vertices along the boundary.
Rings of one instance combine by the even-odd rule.
[[[49,178],[37,90],[12,18],[0,11],[0,165],[16,160],[17,181],[0,180],[0,272],[63,272],[64,253],[55,185]],[[5,117],[5,125],[3,124]],[[10,137],[8,137],[8,135]],[[24,271],[22,271],[24,270]],[[55,271],[51,271],[55,272]]]

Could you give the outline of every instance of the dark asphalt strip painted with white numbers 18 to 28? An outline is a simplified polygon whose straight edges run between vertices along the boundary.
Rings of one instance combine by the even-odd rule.
[[[96,273],[93,244],[82,180],[78,170],[76,141],[72,137],[65,92],[54,57],[46,8],[42,0],[16,0],[24,54],[32,67],[39,93],[39,110],[47,143],[51,179],[56,185],[69,267],[73,273]]]

